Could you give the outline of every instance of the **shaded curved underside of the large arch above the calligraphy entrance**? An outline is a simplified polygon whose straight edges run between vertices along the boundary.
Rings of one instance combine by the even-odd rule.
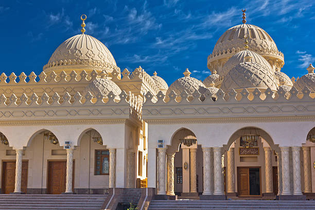
[[[228,151],[231,147],[231,145],[233,144],[233,142],[235,141],[235,139],[239,138],[241,135],[244,135],[244,133],[246,133],[246,130],[255,128],[257,132],[257,134],[262,137],[270,146],[271,149],[275,150],[275,151],[279,151],[279,147],[278,145],[275,145],[273,142],[273,139],[271,138],[270,134],[267,133],[265,130],[255,127],[255,126],[248,126],[248,127],[243,127],[238,129],[237,131],[235,131],[229,138],[228,144],[223,145],[224,150]]]

